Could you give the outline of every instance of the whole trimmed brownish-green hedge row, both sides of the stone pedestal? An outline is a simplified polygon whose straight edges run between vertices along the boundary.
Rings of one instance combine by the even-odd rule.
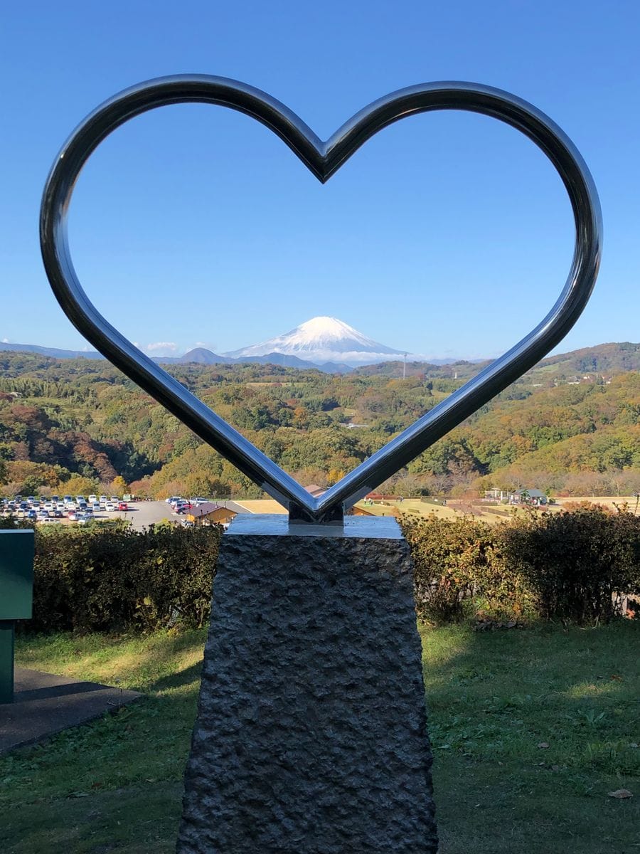
[[[20,524],[20,523],[19,523]],[[640,517],[602,508],[494,526],[401,519],[416,609],[464,617],[606,621],[615,594],[640,594]],[[21,525],[21,524],[20,524]],[[9,524],[6,525],[9,527]],[[207,622],[218,528],[37,529],[35,631],[120,631]]]

